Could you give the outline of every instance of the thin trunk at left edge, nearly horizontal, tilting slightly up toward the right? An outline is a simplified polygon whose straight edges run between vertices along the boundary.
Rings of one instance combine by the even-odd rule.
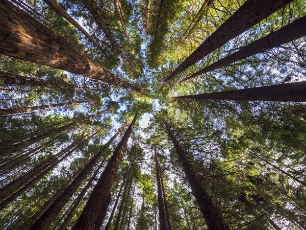
[[[64,103],[50,104],[50,105],[39,105],[39,106],[33,106],[33,107],[19,107],[19,108],[0,109],[0,117],[10,115],[10,114],[39,110],[39,109],[47,109],[47,108],[54,108],[54,107],[68,106],[68,105],[78,105],[78,104],[81,104],[81,103],[84,103],[84,102],[85,101],[72,101],[72,102],[64,102]]]

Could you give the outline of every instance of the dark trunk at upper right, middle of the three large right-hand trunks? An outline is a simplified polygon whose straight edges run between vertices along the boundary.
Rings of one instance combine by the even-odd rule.
[[[216,70],[217,68],[231,64],[235,61],[250,57],[254,54],[264,52],[268,49],[278,47],[279,45],[292,41],[306,35],[306,16],[299,18],[291,24],[279,29],[263,38],[251,42],[250,44],[242,47],[239,51],[230,54],[213,64],[202,68],[202,70],[190,75],[183,81],[194,78],[201,74]]]

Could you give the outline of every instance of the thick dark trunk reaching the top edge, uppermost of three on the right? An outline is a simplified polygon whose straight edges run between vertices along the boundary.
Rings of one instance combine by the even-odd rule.
[[[170,81],[176,75],[201,60],[226,42],[256,25],[275,11],[285,7],[293,0],[248,0],[230,18],[228,18],[211,36],[209,36],[183,63],[165,80]]]

